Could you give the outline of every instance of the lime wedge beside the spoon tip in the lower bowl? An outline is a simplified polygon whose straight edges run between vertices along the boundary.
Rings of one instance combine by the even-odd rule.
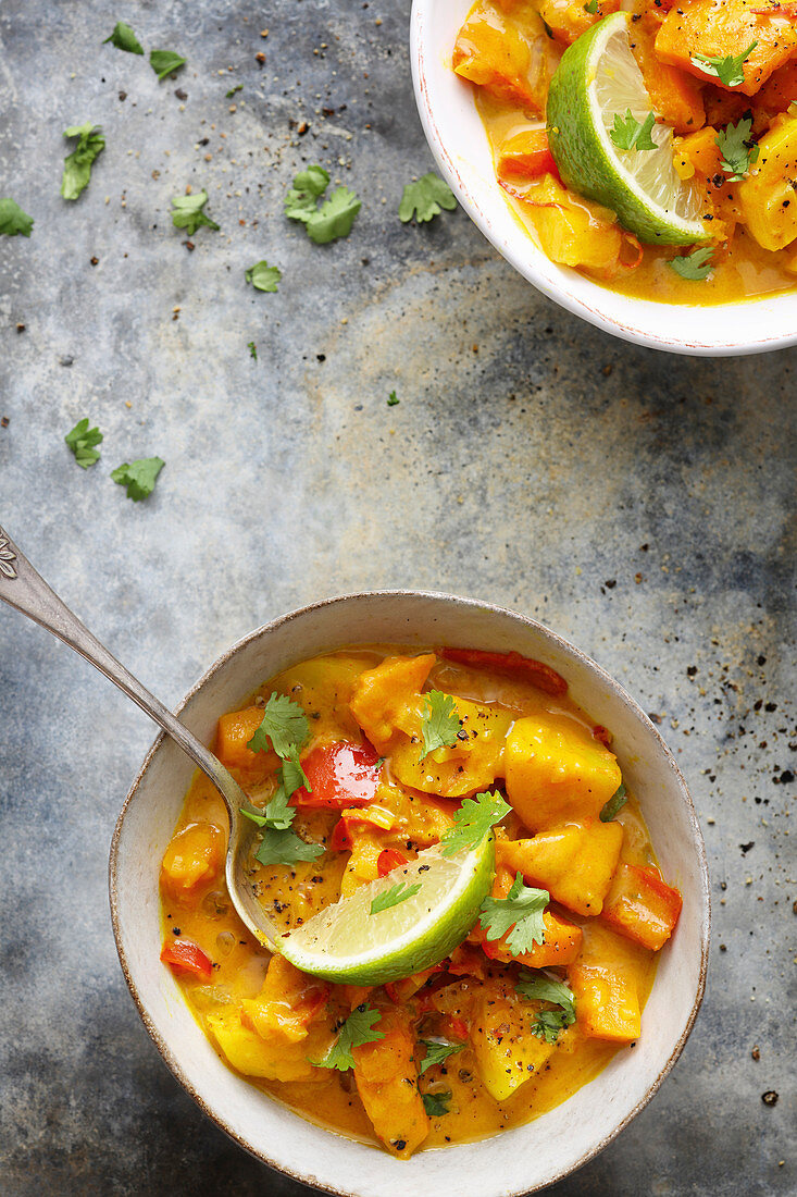
[[[348,898],[314,915],[278,941],[278,950],[303,972],[352,985],[383,985],[431,968],[462,942],[476,922],[495,868],[491,832],[479,847],[443,856],[440,845]],[[371,913],[403,882],[412,897]],[[377,906],[381,904],[377,903]]]

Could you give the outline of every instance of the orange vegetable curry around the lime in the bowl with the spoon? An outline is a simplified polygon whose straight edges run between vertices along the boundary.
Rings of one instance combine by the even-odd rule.
[[[467,809],[492,812],[494,867],[483,913],[444,959],[329,984],[244,930],[223,803],[197,774],[163,858],[162,960],[220,1058],[402,1159],[528,1122],[595,1077],[644,1034],[681,909],[610,743],[548,667],[468,649],[333,652],[223,716],[217,753],[262,828],[253,869],[278,935],[400,875]]]

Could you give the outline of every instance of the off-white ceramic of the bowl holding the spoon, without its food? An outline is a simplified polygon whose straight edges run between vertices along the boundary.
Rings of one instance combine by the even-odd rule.
[[[120,815],[110,857],[114,932],[130,992],[170,1069],[213,1122],[273,1167],[355,1197],[507,1197],[534,1192],[606,1147],[650,1100],[696,1016],[708,952],[708,877],[702,837],[677,766],[637,703],[598,666],[541,624],[499,607],[419,591],[330,598],[257,628],[233,645],[181,704],[182,719],[212,743],[219,715],[266,679],[315,654],[367,643],[516,649],[561,673],[570,693],[614,734],[668,880],[683,894],[675,936],[633,1052],[620,1052],[559,1108],[495,1138],[421,1152],[402,1162],[304,1122],[231,1073],[159,962],[158,873],[193,765],[159,736]]]

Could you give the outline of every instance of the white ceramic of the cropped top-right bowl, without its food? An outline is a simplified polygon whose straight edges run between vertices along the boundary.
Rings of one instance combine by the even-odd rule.
[[[451,69],[473,0],[413,0],[415,101],[440,172],[485,237],[539,291],[590,324],[671,353],[761,353],[797,342],[797,293],[699,308],[616,294],[552,262],[512,214],[495,181],[473,87]]]

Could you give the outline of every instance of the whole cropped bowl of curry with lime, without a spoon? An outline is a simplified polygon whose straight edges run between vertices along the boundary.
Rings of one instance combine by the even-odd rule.
[[[670,352],[795,344],[797,6],[414,0],[410,41],[442,174],[540,291]]]

